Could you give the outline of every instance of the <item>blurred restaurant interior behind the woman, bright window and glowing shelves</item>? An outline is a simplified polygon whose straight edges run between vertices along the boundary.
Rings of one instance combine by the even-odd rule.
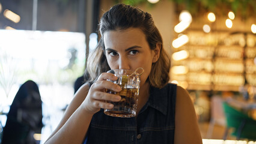
[[[254,143],[256,128],[245,131],[256,127],[255,0],[0,0],[0,136],[17,92],[32,80],[43,115],[33,137],[45,142],[99,40],[100,17],[119,2],[152,14],[171,57],[170,82],[189,92],[204,143]],[[223,102],[242,118],[227,115]]]

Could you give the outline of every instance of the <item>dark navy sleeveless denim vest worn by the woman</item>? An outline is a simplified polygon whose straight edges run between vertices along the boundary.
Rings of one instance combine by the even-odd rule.
[[[177,86],[150,88],[150,97],[137,118],[94,114],[84,143],[174,143]]]

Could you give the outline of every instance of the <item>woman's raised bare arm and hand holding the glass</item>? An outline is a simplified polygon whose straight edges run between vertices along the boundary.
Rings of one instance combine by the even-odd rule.
[[[112,109],[113,104],[105,100],[120,101],[121,97],[105,92],[105,88],[121,91],[120,86],[107,81],[116,80],[114,74],[103,73],[91,88],[82,85],[67,107],[64,116],[46,143],[82,143],[94,113],[102,109]]]

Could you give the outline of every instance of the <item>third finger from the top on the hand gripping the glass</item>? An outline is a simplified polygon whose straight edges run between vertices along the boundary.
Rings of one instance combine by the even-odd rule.
[[[121,97],[120,95],[115,95],[115,94],[109,94],[106,92],[94,92],[92,95],[94,99],[96,100],[107,100],[107,101],[120,101]]]

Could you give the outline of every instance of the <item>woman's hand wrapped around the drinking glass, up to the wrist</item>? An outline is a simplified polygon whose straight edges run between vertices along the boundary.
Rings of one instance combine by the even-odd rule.
[[[99,112],[102,109],[112,109],[114,107],[111,103],[106,103],[107,101],[120,101],[121,97],[119,95],[109,94],[105,92],[105,89],[111,89],[112,91],[121,91],[120,86],[115,83],[109,82],[109,80],[117,80],[117,77],[112,73],[102,73],[96,82],[91,85],[88,91],[87,97],[82,103],[84,109],[89,113]]]

